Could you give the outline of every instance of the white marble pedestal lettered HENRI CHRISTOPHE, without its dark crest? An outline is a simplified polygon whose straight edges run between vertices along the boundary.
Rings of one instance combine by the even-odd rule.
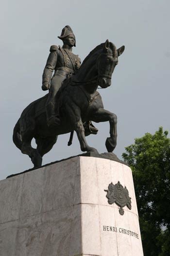
[[[124,215],[109,183],[126,186]],[[0,181],[1,256],[143,256],[132,172],[103,158],[75,157]]]

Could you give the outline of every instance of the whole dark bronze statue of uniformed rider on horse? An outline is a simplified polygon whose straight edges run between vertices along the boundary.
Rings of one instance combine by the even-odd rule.
[[[71,133],[70,145],[74,131],[83,152],[98,153],[85,139],[85,136],[98,132],[92,121],[109,121],[110,137],[105,142],[108,152],[113,152],[117,144],[117,116],[103,108],[97,88],[111,85],[112,73],[124,46],[116,49],[106,40],[81,64],[79,57],[71,51],[76,42],[70,26],[62,30],[59,39],[63,40],[63,47],[51,46],[43,72],[42,89],[49,93],[30,103],[14,127],[13,141],[31,158],[34,167],[42,165],[42,157],[51,150],[58,135]],[[33,138],[36,149],[31,145]]]

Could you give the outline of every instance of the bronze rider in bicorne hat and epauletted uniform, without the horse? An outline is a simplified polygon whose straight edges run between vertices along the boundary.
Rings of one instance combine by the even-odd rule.
[[[60,124],[59,115],[56,114],[56,94],[64,79],[74,75],[81,66],[81,59],[72,53],[72,47],[76,46],[76,40],[70,26],[65,26],[58,38],[63,41],[63,46],[51,46],[42,79],[42,90],[49,90],[46,102],[48,126]],[[85,124],[85,130],[88,130],[86,131],[87,135],[98,132],[98,129],[91,122]]]

